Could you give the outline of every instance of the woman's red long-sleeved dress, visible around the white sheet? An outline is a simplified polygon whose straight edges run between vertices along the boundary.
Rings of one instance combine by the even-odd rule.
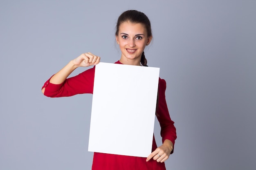
[[[116,64],[122,64],[117,61]],[[48,79],[44,86],[44,95],[47,97],[67,97],[76,94],[93,92],[95,66],[79,75],[67,78],[62,84],[52,84]],[[158,85],[158,102],[156,116],[161,126],[162,141],[169,139],[175,143],[176,128],[171,120],[166,99],[165,99],[166,82],[159,78]],[[153,136],[152,151],[157,148],[155,137]],[[171,152],[173,153],[173,151]],[[150,159],[146,162],[144,157],[131,157],[124,155],[112,155],[94,152],[92,170],[166,170],[164,163]]]

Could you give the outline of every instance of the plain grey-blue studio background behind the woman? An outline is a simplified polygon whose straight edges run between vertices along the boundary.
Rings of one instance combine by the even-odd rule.
[[[91,168],[92,95],[40,89],[81,53],[119,60],[115,23],[128,9],[150,18],[146,58],[167,82],[178,138],[166,168],[256,169],[255,0],[1,0],[0,170]]]

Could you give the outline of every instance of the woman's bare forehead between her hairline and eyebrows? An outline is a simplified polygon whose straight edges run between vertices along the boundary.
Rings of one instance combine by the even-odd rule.
[[[144,24],[141,23],[132,23],[132,22],[123,22],[119,26],[119,34],[144,34],[146,35],[146,28]]]

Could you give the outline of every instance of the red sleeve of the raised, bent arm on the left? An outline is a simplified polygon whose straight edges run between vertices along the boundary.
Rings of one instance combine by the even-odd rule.
[[[62,84],[52,84],[49,78],[44,86],[44,95],[47,97],[67,97],[76,94],[93,92],[95,66],[79,75],[67,78]]]

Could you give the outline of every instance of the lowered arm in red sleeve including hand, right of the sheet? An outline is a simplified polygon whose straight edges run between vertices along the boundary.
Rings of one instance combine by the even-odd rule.
[[[166,82],[164,79],[159,78],[158,88],[158,102],[157,102],[157,119],[161,126],[161,136],[163,144],[153,151],[147,158],[147,161],[153,158],[157,162],[166,161],[170,154],[173,153],[173,147],[175,143],[176,128],[174,122],[168,112],[166,99],[165,99]]]

